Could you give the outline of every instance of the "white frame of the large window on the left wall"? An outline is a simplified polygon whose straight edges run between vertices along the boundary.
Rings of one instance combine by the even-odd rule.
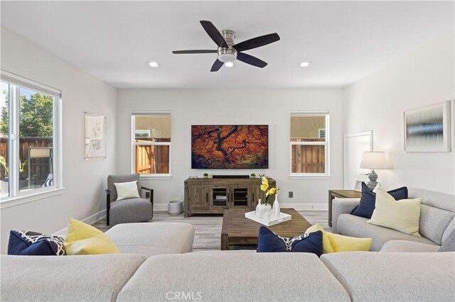
[[[9,133],[8,133],[8,167],[9,196],[0,198],[0,208],[16,206],[21,203],[41,200],[50,196],[63,194],[63,160],[62,160],[62,97],[61,91],[51,86],[18,76],[4,69],[0,71],[1,82],[9,84]],[[20,89],[28,89],[53,97],[53,186],[46,186],[27,191],[19,191],[19,143],[20,136],[19,101]]]

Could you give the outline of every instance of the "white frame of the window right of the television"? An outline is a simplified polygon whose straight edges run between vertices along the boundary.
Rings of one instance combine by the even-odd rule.
[[[291,138],[292,116],[325,116],[326,117],[326,141],[325,142],[291,142],[289,141],[289,179],[331,179],[330,174],[330,113],[324,111],[291,111],[289,115],[289,140]],[[319,133],[319,130],[318,130]],[[294,173],[292,172],[292,146],[293,145],[323,145],[325,173]]]

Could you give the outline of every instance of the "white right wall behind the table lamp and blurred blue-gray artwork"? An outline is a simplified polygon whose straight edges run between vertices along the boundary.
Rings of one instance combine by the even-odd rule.
[[[374,150],[392,165],[377,170],[388,189],[454,194],[455,152],[404,152],[403,123],[404,111],[455,99],[454,53],[454,32],[446,33],[344,91],[345,133],[373,130]]]

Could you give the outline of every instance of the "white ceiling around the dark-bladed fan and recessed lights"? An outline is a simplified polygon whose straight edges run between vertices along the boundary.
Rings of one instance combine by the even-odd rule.
[[[171,53],[216,49],[200,20],[281,40],[246,51],[264,69],[210,72],[216,54]],[[1,26],[119,88],[338,88],[453,30],[454,1],[1,1]]]

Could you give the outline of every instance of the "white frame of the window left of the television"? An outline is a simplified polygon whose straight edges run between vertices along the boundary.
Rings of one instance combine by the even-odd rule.
[[[141,179],[172,179],[172,118],[171,118],[171,141],[170,142],[135,142],[136,133],[134,129],[134,117],[135,116],[169,116],[171,118],[171,111],[137,111],[134,110],[131,113],[131,172],[136,173],[136,146],[169,146],[169,173],[160,173],[160,174],[144,174],[139,173]]]

